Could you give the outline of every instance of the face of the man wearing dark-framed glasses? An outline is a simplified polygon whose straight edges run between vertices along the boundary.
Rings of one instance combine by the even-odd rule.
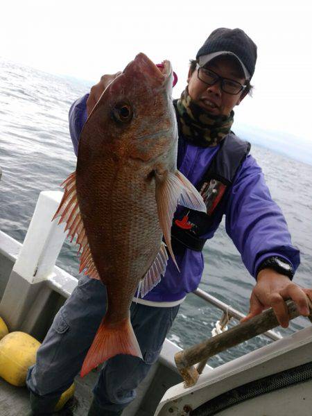
[[[205,68],[211,69],[223,78],[234,80],[240,84],[245,83],[245,78],[242,78],[241,68],[239,63],[232,58],[220,56],[208,62]],[[235,105],[239,105],[246,93],[239,92],[237,95],[227,94],[222,91],[220,80],[214,85],[207,85],[198,78],[198,70],[191,73],[189,71],[189,78],[187,79],[189,95],[192,100],[202,107],[203,110],[214,114],[216,116],[225,115],[233,110]]]

